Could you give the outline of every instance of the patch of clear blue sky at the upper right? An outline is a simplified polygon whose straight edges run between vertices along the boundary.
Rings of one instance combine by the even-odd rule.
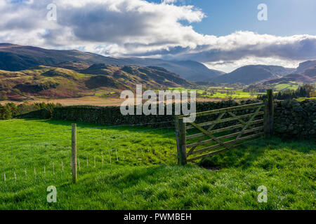
[[[248,30],[277,36],[316,35],[315,0],[183,0],[175,4],[183,3],[201,8],[206,14],[202,22],[193,24],[195,30],[203,34],[225,36]],[[268,21],[257,19],[260,3],[268,6]]]

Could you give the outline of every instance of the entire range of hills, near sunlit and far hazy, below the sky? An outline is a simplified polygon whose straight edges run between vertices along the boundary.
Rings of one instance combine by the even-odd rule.
[[[98,90],[133,89],[136,84],[165,88],[195,83],[315,83],[316,60],[297,69],[247,65],[230,73],[193,61],[104,57],[79,50],[46,50],[0,43],[0,100],[83,97]]]

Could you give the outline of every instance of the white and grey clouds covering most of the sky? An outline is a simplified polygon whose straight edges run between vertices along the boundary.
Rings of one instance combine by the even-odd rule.
[[[202,10],[176,6],[174,0],[54,0],[57,22],[46,20],[49,3],[52,1],[0,1],[0,42],[84,48],[117,57],[193,59],[221,69],[250,62],[291,66],[316,58],[316,36],[251,31],[228,36],[199,34],[182,21],[201,22],[205,18]]]

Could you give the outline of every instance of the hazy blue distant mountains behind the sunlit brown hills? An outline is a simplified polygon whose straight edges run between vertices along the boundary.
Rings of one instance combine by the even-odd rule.
[[[298,69],[261,64],[247,65],[230,73],[224,73],[223,71],[209,69],[204,64],[194,61],[169,61],[139,57],[114,58],[79,50],[47,50],[33,46],[0,43],[0,69],[6,71],[21,71],[40,65],[58,66],[74,70],[86,69],[93,64],[155,66],[162,67],[193,82],[243,83],[247,85],[250,83],[264,83],[265,81],[284,78],[288,75],[291,76],[287,78],[293,79],[295,77],[294,74],[300,75],[297,80],[308,83],[314,79],[312,77],[315,74],[314,70],[312,70],[313,66],[315,66],[314,62],[304,62],[300,64]],[[302,74],[307,69],[310,69],[308,72],[311,78],[306,78]]]

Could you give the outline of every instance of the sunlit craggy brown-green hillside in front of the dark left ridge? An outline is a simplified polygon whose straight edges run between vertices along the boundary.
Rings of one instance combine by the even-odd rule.
[[[22,71],[0,70],[1,100],[84,97],[96,94],[96,90],[133,90],[136,84],[156,88],[192,85],[175,73],[158,67],[93,64],[79,72],[52,66]]]

